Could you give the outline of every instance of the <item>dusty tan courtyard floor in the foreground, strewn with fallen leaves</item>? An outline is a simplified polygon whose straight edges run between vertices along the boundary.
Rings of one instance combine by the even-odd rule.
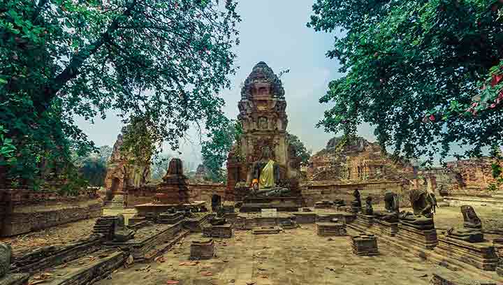
[[[98,284],[429,284],[436,270],[384,245],[379,256],[356,256],[351,238],[319,237],[313,225],[272,235],[236,231],[234,238],[216,240],[214,258],[190,261],[190,244],[201,239],[189,235],[163,255],[163,263],[121,268]]]

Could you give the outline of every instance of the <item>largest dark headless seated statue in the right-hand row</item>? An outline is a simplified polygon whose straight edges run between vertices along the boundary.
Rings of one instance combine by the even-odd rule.
[[[437,206],[435,194],[414,189],[409,193],[409,198],[414,212],[400,213],[400,222],[421,230],[435,228],[433,223],[433,214]]]

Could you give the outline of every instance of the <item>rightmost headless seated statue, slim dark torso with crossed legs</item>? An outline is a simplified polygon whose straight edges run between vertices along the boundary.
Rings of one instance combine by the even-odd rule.
[[[449,238],[464,240],[465,242],[483,242],[482,221],[477,216],[472,206],[461,206],[461,214],[463,215],[462,228],[449,228],[446,235]]]

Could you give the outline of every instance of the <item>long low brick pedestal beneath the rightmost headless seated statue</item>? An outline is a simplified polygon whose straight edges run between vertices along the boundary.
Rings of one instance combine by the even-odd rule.
[[[435,252],[445,256],[447,261],[453,258],[481,270],[496,270],[498,258],[490,242],[465,242],[445,235],[439,235],[438,242]]]

